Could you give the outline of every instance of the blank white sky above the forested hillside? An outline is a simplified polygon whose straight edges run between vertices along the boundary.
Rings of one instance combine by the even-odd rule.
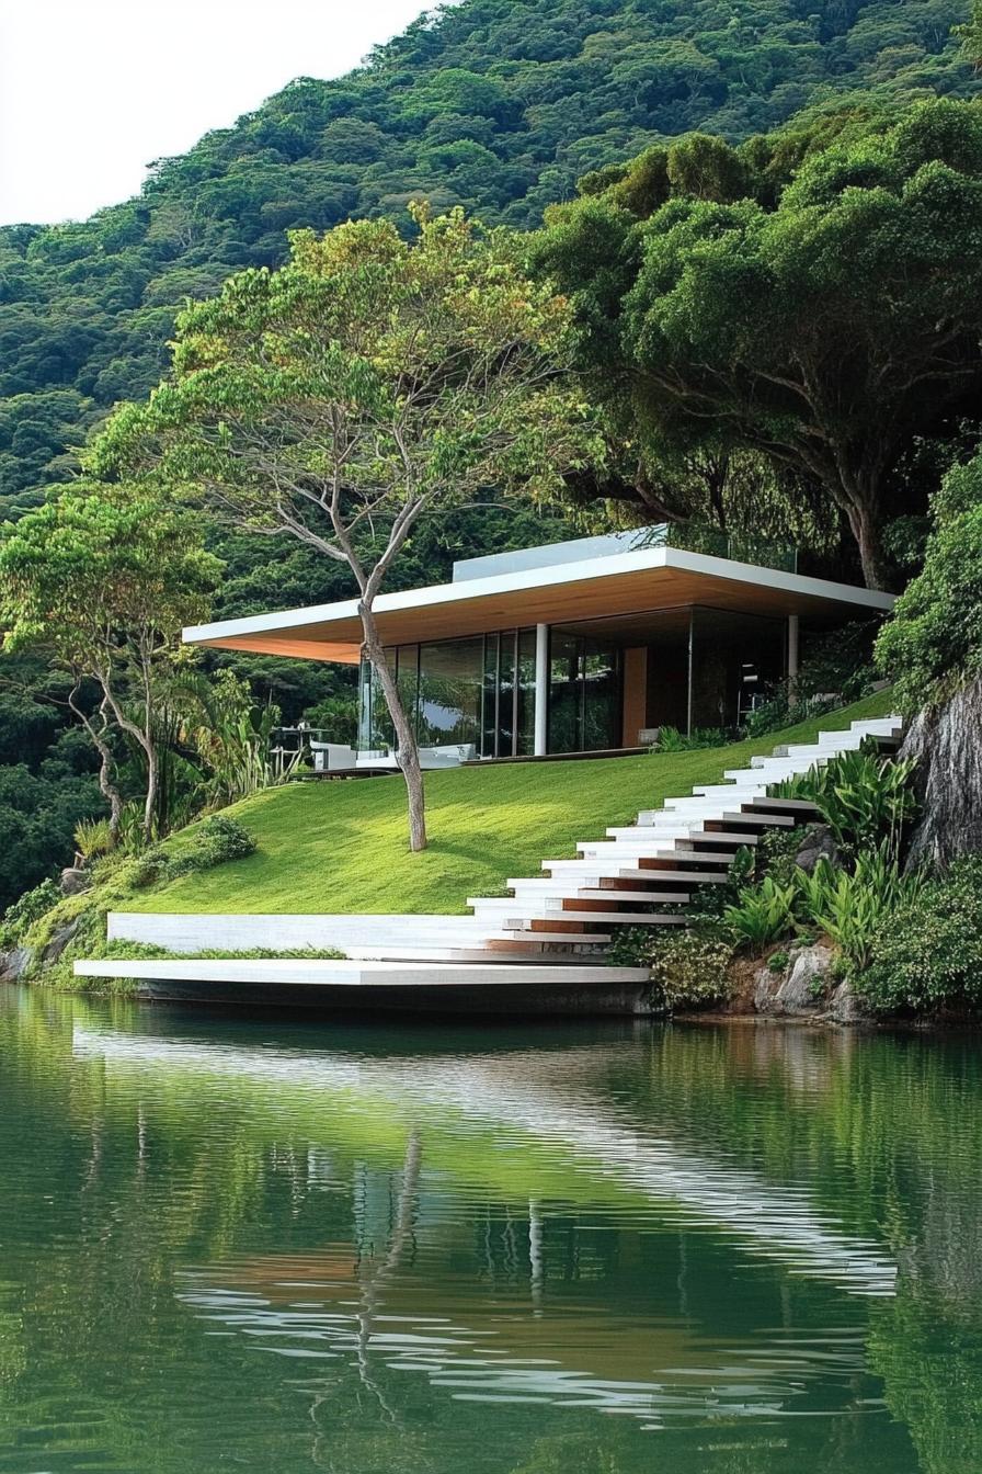
[[[423,0],[0,0],[0,224],[84,218]]]

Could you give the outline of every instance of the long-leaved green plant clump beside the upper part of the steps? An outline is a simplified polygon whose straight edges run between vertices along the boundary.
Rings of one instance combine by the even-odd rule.
[[[795,783],[795,796],[817,805],[832,837],[858,853],[886,843],[900,853],[904,830],[917,812],[911,786],[916,759],[883,758],[876,743],[844,752]]]

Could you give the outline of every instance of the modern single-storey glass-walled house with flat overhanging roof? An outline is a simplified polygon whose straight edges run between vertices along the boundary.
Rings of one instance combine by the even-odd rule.
[[[531,758],[643,746],[671,725],[732,728],[792,677],[814,631],[892,597],[802,576],[789,550],[673,547],[670,529],[580,538],[455,563],[449,584],[383,594],[375,616],[421,747]],[[392,740],[358,604],[227,619],[190,644],[361,666],[358,749]]]

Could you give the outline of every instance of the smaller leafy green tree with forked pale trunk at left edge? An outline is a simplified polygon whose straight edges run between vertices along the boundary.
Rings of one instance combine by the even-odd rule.
[[[186,511],[125,486],[54,488],[44,507],[3,529],[3,647],[38,650],[71,675],[69,706],[99,753],[113,839],[122,797],[112,733],[125,734],[143,756],[143,833],[150,840],[159,700],[186,659],[181,625],[208,616],[221,567]],[[81,700],[90,681],[99,690],[96,710]]]

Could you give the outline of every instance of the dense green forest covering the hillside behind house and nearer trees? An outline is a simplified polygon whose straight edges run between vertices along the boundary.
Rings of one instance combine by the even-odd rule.
[[[970,97],[982,81],[951,34],[966,13],[964,0],[464,0],[347,77],[300,78],[156,161],[137,199],[88,221],[6,226],[0,519],[37,507],[112,405],[158,382],[181,302],[243,267],[278,265],[289,230],[406,221],[420,196],[533,228],[584,175],[692,130],[741,144],[802,109],[841,115],[854,94],[885,115],[920,96]],[[452,513],[414,538],[393,584],[562,526],[530,510]],[[225,535],[216,550],[221,615],[349,591],[343,572],[296,545]],[[261,657],[237,669],[287,718],[350,703],[330,671]],[[94,756],[65,699],[41,662],[4,657],[0,905],[66,859],[77,820],[100,811]]]

